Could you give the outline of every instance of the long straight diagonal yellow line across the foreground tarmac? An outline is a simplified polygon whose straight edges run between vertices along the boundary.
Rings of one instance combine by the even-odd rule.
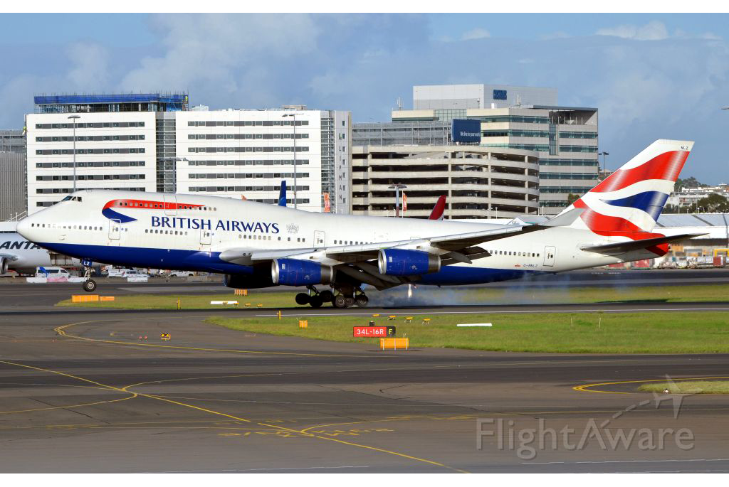
[[[121,342],[121,343],[123,343],[123,342]],[[318,438],[320,440],[333,441],[333,442],[336,442],[336,443],[342,443],[343,445],[356,446],[357,448],[364,448],[364,449],[367,449],[367,450],[379,451],[381,453],[390,454],[390,455],[394,455],[394,456],[400,456],[402,458],[414,460],[416,462],[424,462],[424,463],[427,463],[427,464],[435,465],[437,467],[443,467],[445,469],[453,470],[455,472],[467,473],[466,470],[460,470],[460,469],[457,469],[457,468],[454,468],[454,467],[449,467],[446,464],[442,464],[440,462],[434,462],[433,460],[423,459],[423,458],[420,458],[418,456],[412,456],[412,455],[408,455],[408,454],[402,454],[402,453],[399,453],[397,451],[386,450],[385,448],[377,448],[375,446],[362,445],[361,443],[353,443],[351,441],[338,440],[337,438],[332,438],[332,437],[327,437],[327,436],[322,436],[322,435],[315,435],[313,433],[302,432],[302,431],[297,430],[297,429],[286,428],[286,427],[280,426],[278,424],[268,424],[268,423],[263,423],[263,422],[260,422],[260,421],[253,421],[251,419],[241,418],[240,416],[233,416],[232,414],[222,413],[220,411],[213,411],[212,409],[201,408],[200,406],[196,406],[196,405],[192,405],[192,404],[181,403],[179,401],[171,400],[171,399],[168,399],[168,398],[165,398],[165,397],[159,397],[159,396],[150,395],[150,394],[141,394],[141,393],[136,393],[136,392],[129,392],[129,391],[126,391],[124,388],[109,386],[108,384],[101,384],[101,382],[93,381],[91,379],[85,379],[85,378],[79,377],[79,376],[74,376],[74,375],[71,375],[70,373],[64,373],[64,372],[61,372],[61,371],[52,371],[52,370],[47,369],[47,368],[39,368],[39,367],[34,367],[32,365],[25,365],[25,364],[22,364],[22,363],[6,362],[4,360],[0,360],[0,363],[4,363],[4,364],[7,364],[7,365],[15,365],[17,367],[28,368],[28,369],[31,369],[31,370],[34,370],[34,371],[42,371],[42,372],[48,372],[48,373],[55,373],[55,374],[58,374],[60,376],[69,377],[71,379],[77,379],[79,381],[88,382],[90,384],[95,384],[95,385],[98,385],[98,386],[101,386],[101,387],[106,387],[107,389],[112,389],[114,391],[123,392],[125,394],[132,395],[131,397],[125,397],[125,399],[131,399],[133,397],[149,397],[150,399],[160,400],[160,401],[163,401],[165,403],[172,403],[172,404],[176,404],[176,405],[181,405],[181,406],[183,406],[185,408],[192,408],[192,409],[196,409],[198,411],[203,411],[203,412],[206,412],[206,413],[215,414],[217,416],[224,416],[226,418],[235,419],[236,421],[243,421],[245,423],[256,423],[256,424],[260,424],[261,426],[265,426],[265,427],[277,429],[279,431],[288,431],[288,432],[292,432],[292,433],[299,434],[299,435],[303,435],[303,436],[307,436],[307,437],[315,437],[315,438]],[[130,384],[130,385],[133,385],[133,384]],[[130,387],[130,386],[127,386],[127,387]]]

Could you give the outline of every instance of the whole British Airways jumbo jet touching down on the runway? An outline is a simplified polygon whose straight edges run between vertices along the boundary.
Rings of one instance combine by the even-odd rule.
[[[217,272],[230,288],[305,286],[311,294],[298,294],[298,304],[366,306],[364,284],[465,285],[662,256],[668,242],[695,236],[653,231],[692,146],[656,140],[539,225],[334,215],[194,194],[81,190],[23,219],[17,231],[86,266]],[[87,291],[95,287],[93,280],[84,283]]]

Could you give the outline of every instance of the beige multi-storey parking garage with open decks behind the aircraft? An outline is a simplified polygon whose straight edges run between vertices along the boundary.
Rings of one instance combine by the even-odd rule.
[[[480,146],[354,146],[352,212],[393,215],[394,184],[404,184],[405,216],[427,218],[445,194],[445,218],[537,213],[539,158],[534,151]]]

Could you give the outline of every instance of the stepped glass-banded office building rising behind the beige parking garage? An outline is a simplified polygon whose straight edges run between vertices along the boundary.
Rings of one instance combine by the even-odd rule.
[[[598,111],[559,106],[554,88],[416,86],[412,110],[393,111],[391,122],[355,124],[353,144],[443,146],[453,140],[453,119],[480,122],[475,129],[480,130],[480,140],[475,144],[483,148],[537,154],[540,213],[559,213],[569,194],[584,194],[598,182]],[[407,183],[405,174],[402,178],[400,182]],[[499,207],[498,203],[490,205]],[[494,215],[494,211],[489,213]]]

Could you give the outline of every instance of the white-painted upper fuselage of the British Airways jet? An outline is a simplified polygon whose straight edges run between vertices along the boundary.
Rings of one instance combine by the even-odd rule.
[[[47,207],[21,221],[18,230],[29,240],[52,250],[58,250],[54,245],[63,245],[58,251],[77,258],[94,257],[73,250],[76,245],[84,245],[119,247],[139,253],[184,250],[198,253],[198,256],[207,254],[212,259],[214,254],[233,248],[251,252],[331,248],[510,228],[488,223],[310,213],[277,205],[190,194],[95,190],[77,191],[72,196],[80,197],[81,201],[63,201]],[[136,221],[118,223],[101,214],[104,205],[115,199],[166,200],[177,205],[202,206],[173,210],[114,207],[112,209],[118,213],[136,218]],[[233,225],[234,221],[238,224]],[[626,237],[601,237],[588,230],[555,227],[482,243],[479,246],[493,255],[479,258],[472,264],[454,266],[564,272],[655,257],[647,250],[603,256],[580,249],[585,245],[625,240]],[[137,260],[129,255],[125,261],[114,264],[150,266],[147,261]],[[171,268],[164,258],[158,264],[161,269]]]

